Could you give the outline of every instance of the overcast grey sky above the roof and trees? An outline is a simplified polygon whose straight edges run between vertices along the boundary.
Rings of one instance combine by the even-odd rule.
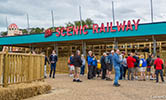
[[[16,23],[27,28],[26,14],[30,27],[51,27],[51,10],[54,11],[55,26],[79,20],[79,5],[82,18],[91,18],[95,23],[112,21],[112,0],[0,0],[0,31],[6,31],[8,24]],[[114,0],[115,19],[141,19],[151,22],[150,0]],[[166,21],[166,0],[153,0],[154,21]]]

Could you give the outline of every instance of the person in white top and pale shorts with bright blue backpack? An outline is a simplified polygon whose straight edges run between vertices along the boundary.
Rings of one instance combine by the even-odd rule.
[[[145,71],[146,71],[147,62],[144,59],[144,55],[141,55],[139,66],[140,66],[140,71],[141,71],[141,79],[140,79],[140,81],[142,81],[142,80],[146,81],[146,79],[145,79]]]

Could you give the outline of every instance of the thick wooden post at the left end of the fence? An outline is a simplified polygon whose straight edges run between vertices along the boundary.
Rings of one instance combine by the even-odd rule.
[[[7,87],[8,86],[8,51],[5,54],[4,57],[4,65],[3,65],[3,87]]]

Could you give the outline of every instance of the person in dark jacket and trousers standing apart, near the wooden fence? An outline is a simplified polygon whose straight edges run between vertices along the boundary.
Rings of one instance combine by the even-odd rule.
[[[52,76],[52,72],[53,72],[53,78],[55,78],[55,72],[56,72],[56,63],[58,61],[58,56],[56,54],[56,51],[53,50],[52,54],[50,55],[50,63],[51,63],[51,70],[50,70],[50,78]]]

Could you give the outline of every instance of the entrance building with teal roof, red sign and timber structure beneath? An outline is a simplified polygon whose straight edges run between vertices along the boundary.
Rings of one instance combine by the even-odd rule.
[[[57,29],[56,32],[1,37],[0,45],[30,48],[47,55],[55,49],[59,57],[58,72],[68,72],[68,57],[76,50],[81,50],[85,56],[91,50],[99,59],[103,52],[118,48],[126,54],[131,51],[159,54],[166,60],[166,22],[137,22],[127,21],[127,24],[117,23],[116,26],[111,26],[111,23],[108,26],[95,24],[92,29],[87,26],[70,27]]]

